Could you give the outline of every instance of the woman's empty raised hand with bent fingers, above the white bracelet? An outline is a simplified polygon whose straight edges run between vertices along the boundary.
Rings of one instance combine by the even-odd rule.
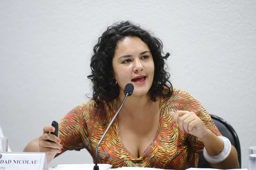
[[[204,123],[194,112],[178,110],[175,113],[170,112],[170,116],[174,125],[179,123],[180,131],[184,134],[189,133],[201,139],[208,133]]]

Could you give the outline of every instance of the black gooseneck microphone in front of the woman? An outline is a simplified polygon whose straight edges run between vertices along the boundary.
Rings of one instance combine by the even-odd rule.
[[[101,144],[101,141],[103,140],[103,138],[104,138],[104,136],[106,135],[108,129],[110,128],[110,126],[112,125],[112,123],[114,122],[114,120],[116,119],[116,117],[117,117],[118,113],[120,112],[120,110],[121,110],[121,108],[122,108],[122,106],[123,106],[123,104],[124,104],[126,98],[127,98],[128,96],[132,95],[133,90],[134,90],[133,84],[131,84],[131,83],[126,84],[126,86],[125,86],[125,88],[124,88],[125,97],[124,97],[124,99],[123,99],[123,102],[122,102],[121,106],[119,107],[119,109],[117,110],[117,113],[115,114],[115,116],[113,117],[113,119],[110,121],[110,123],[109,123],[109,125],[108,125],[106,131],[104,132],[104,134],[103,134],[102,137],[101,137],[101,140],[98,142],[98,144],[97,144],[97,146],[96,146],[96,151],[95,151],[95,165],[94,165],[94,167],[93,167],[93,170],[99,170],[99,166],[98,166],[98,148],[99,148],[99,146],[100,146],[100,144]]]

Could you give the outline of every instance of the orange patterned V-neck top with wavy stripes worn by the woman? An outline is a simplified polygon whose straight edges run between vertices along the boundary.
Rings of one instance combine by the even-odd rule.
[[[101,101],[96,112],[95,101],[75,107],[59,121],[59,137],[64,150],[86,148],[95,160],[96,145],[117,111],[117,101]],[[98,163],[108,163],[112,168],[122,166],[152,167],[162,169],[187,169],[197,167],[203,144],[199,138],[183,134],[178,125],[173,126],[170,111],[193,111],[215,135],[221,135],[204,107],[188,92],[173,89],[169,98],[161,98],[160,124],[157,134],[142,153],[133,157],[122,144],[118,117],[114,120],[98,149]]]

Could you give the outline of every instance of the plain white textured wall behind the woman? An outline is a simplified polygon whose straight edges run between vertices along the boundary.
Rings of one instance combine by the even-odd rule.
[[[13,151],[88,100],[92,47],[107,26],[131,20],[172,50],[171,81],[256,146],[256,1],[0,1],[0,124]],[[170,49],[170,50],[168,50]],[[92,163],[83,149],[50,166]]]

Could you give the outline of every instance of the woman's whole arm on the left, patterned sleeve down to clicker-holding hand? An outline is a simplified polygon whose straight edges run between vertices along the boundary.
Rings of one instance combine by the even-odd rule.
[[[85,120],[93,117],[94,112],[92,108],[94,108],[94,104],[95,102],[88,101],[79,105],[59,120],[58,137],[50,134],[50,132],[55,131],[54,127],[45,126],[43,128],[43,134],[39,138],[31,141],[24,148],[24,152],[45,152],[47,162],[49,162],[66,150],[87,148],[90,139],[87,136],[88,130]]]

